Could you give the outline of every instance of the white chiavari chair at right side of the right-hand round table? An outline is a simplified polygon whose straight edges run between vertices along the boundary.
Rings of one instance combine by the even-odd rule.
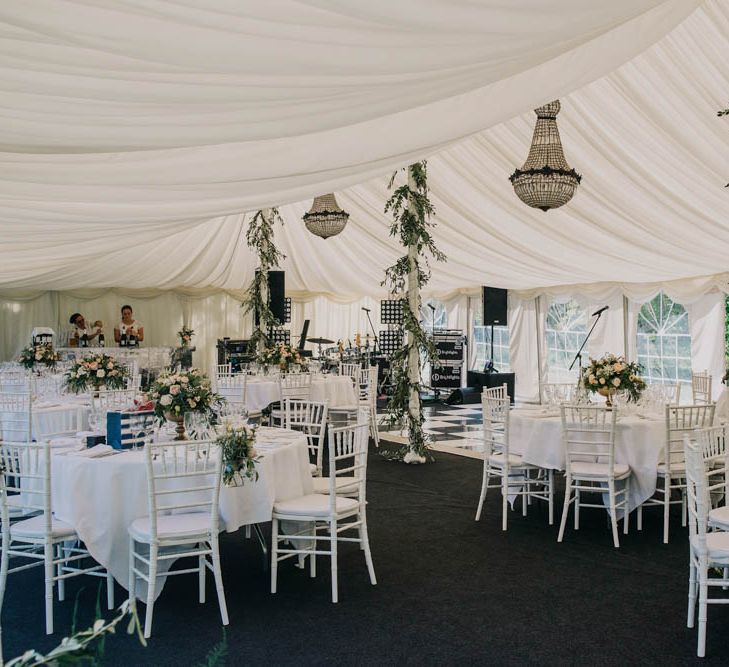
[[[669,512],[671,505],[681,505],[681,525],[686,525],[686,465],[683,459],[683,437],[694,437],[696,429],[711,426],[716,405],[666,405],[666,437],[660,463],[655,495],[638,507],[638,530],[643,528],[643,508],[663,508],[663,542],[668,544]],[[674,491],[679,498],[671,500]]]

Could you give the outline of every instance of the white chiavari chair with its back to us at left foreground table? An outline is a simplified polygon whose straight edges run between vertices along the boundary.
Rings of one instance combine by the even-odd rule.
[[[213,440],[155,442],[145,445],[149,516],[129,527],[129,600],[136,604],[137,580],[147,583],[144,636],[152,633],[157,580],[198,575],[200,603],[205,602],[205,574],[211,570],[223,625],[228,610],[218,547],[222,452]],[[146,549],[138,550],[137,545]],[[160,571],[160,561],[196,557],[197,566]]]

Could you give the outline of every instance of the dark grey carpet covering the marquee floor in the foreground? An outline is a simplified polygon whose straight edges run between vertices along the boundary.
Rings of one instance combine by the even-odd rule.
[[[619,550],[597,510],[585,510],[579,532],[568,529],[562,544],[541,505],[526,519],[512,513],[502,533],[496,494],[487,498],[480,523],[473,520],[480,462],[436,456],[421,467],[372,456],[368,516],[379,583],[370,585],[356,547],[342,547],[337,605],[330,602],[326,559],[313,580],[284,563],[279,592],[271,595],[254,540],[242,532],[224,535],[227,664],[696,661],[696,633],[685,618],[687,539],[678,516],[669,545],[661,542],[658,513],[646,511],[643,532],[621,535]],[[40,571],[10,578],[6,657],[54,646],[71,627],[76,594],[79,626],[91,623],[96,580],[77,579],[67,591],[68,601],[56,603],[57,634],[47,638]],[[117,594],[121,599],[121,588]],[[201,606],[194,576],[173,578],[155,607],[149,647],[117,635],[107,642],[105,664],[198,664],[221,637],[212,581]],[[710,608],[704,664],[729,661],[727,637],[729,609]]]

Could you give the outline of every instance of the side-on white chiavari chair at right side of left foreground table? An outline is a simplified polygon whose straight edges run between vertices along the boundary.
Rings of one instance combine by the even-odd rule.
[[[316,576],[316,557],[331,559],[332,602],[339,600],[338,543],[354,542],[364,551],[372,585],[377,583],[372,564],[367,533],[367,444],[368,426],[351,424],[329,430],[329,493],[312,493],[292,500],[276,502],[273,506],[271,592],[276,592],[278,564],[300,555],[309,556],[311,576]],[[337,483],[346,478],[348,484],[359,488],[357,497],[337,493]],[[280,521],[304,521],[319,525],[324,530],[304,528],[295,534],[279,534]],[[356,530],[357,535],[344,537],[343,533]],[[322,534],[320,534],[322,533]],[[284,546],[284,542],[290,546]],[[327,548],[328,546],[328,548]]]

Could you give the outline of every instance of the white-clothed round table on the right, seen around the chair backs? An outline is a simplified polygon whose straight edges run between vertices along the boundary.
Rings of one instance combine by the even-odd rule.
[[[632,511],[655,493],[666,425],[660,417],[631,415],[619,416],[616,428],[615,460],[617,463],[627,463],[633,471],[629,497]],[[564,470],[566,455],[559,415],[540,409],[512,410],[509,450],[521,454],[525,463]]]

